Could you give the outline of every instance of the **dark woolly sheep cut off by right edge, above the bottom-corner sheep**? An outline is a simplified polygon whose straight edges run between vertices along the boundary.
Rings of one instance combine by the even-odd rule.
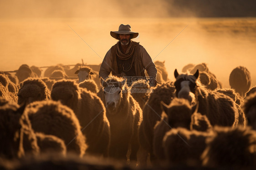
[[[242,110],[246,115],[247,124],[252,126],[253,130],[256,130],[256,93],[245,98]]]

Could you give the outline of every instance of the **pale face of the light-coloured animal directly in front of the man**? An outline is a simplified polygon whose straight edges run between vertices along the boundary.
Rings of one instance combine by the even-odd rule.
[[[105,87],[105,105],[107,109],[114,110],[121,102],[121,88],[120,87]]]

